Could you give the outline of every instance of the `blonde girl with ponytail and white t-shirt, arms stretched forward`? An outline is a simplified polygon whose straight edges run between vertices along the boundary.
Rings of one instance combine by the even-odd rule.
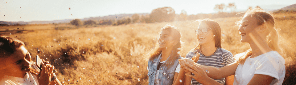
[[[238,24],[241,42],[249,43],[251,49],[236,55],[234,63],[222,68],[199,65],[191,59],[179,59],[181,69],[198,74],[185,75],[205,85],[221,85],[213,79],[229,75],[235,75],[234,85],[282,85],[285,60],[280,55],[273,16],[262,9],[250,9]]]

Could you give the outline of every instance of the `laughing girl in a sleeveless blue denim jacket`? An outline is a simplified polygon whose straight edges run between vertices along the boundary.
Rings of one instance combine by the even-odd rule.
[[[178,59],[181,34],[177,27],[166,25],[161,29],[159,47],[150,53],[147,70],[149,85],[172,85],[180,71]]]

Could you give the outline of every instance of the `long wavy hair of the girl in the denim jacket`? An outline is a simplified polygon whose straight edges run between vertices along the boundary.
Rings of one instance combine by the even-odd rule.
[[[181,52],[181,33],[180,33],[180,30],[175,27],[175,26],[172,26],[170,24],[167,24],[166,26],[162,27],[161,28],[161,31],[163,30],[167,30],[169,31],[172,36],[173,36],[173,40],[175,42],[177,42],[177,44],[173,47],[173,51],[171,53],[170,56],[173,56],[173,58],[171,58],[171,60],[173,59],[177,59],[180,52]],[[153,60],[154,58],[156,58],[157,56],[159,56],[161,54],[161,50],[159,47],[157,48],[154,48],[154,50],[152,50],[149,54],[149,60]]]

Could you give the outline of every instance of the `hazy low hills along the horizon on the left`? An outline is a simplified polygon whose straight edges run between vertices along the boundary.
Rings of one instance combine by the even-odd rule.
[[[142,13],[142,14],[139,14],[139,15],[142,16],[142,15],[146,15],[146,14],[148,14],[148,13]],[[108,15],[108,16],[103,16],[103,17],[83,18],[83,19],[80,19],[80,20],[81,21],[87,21],[87,20],[99,21],[99,20],[104,20],[104,19],[122,19],[122,18],[125,18],[125,17],[131,17],[132,15],[133,14],[115,14],[115,15]],[[53,21],[31,21],[31,22],[5,22],[5,21],[0,21],[0,24],[8,24],[8,25],[14,25],[14,24],[49,24],[49,23],[69,23],[71,21],[72,21],[72,19],[53,20]]]

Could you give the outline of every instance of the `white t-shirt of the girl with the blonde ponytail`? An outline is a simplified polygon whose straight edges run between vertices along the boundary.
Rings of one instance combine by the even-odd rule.
[[[282,85],[286,74],[285,60],[276,51],[248,57],[244,65],[237,66],[233,85],[247,85],[254,74],[269,75],[274,78],[270,85]]]

